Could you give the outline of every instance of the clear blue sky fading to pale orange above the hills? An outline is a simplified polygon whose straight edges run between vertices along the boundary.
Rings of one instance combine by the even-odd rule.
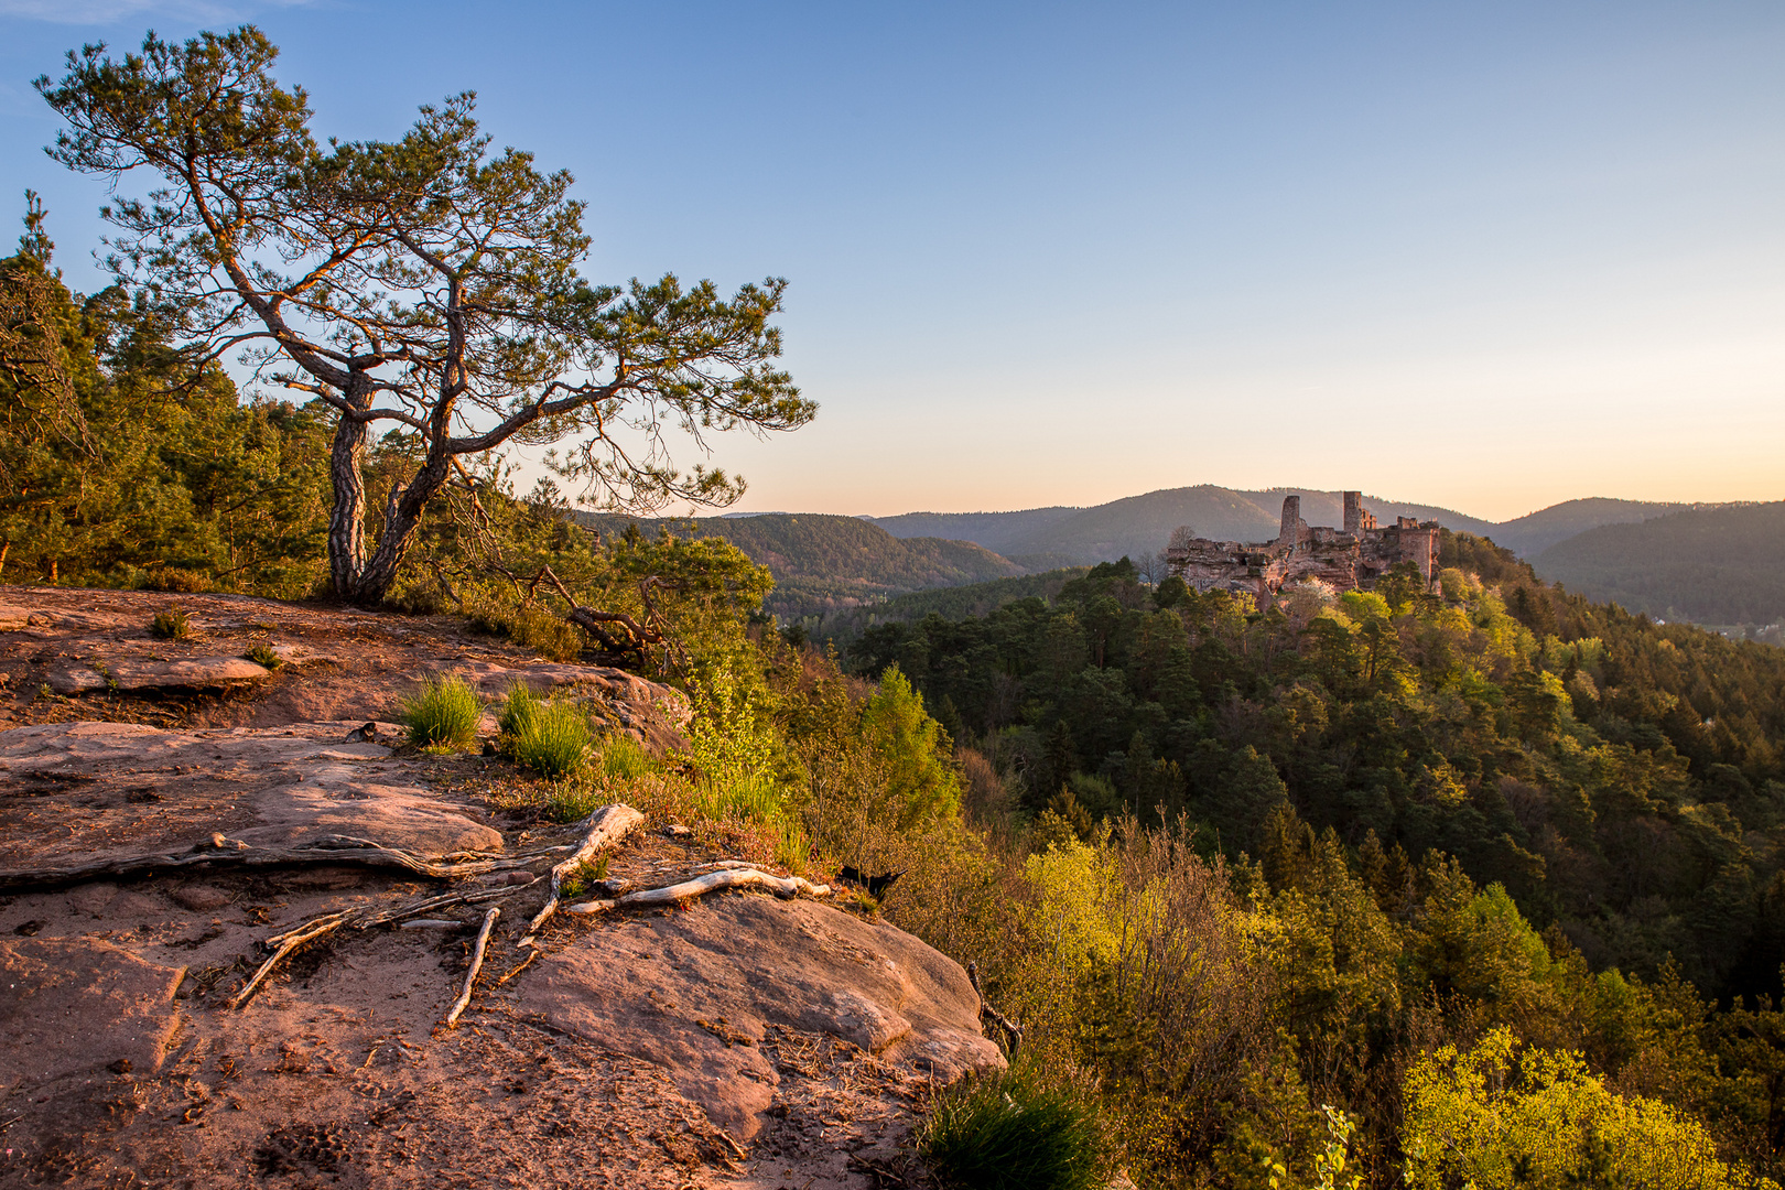
[[[821,412],[718,444],[746,508],[1785,498],[1785,5],[0,0],[73,285],[104,187],[29,80],[239,21],[323,134],[478,91],[596,278],[787,277]]]

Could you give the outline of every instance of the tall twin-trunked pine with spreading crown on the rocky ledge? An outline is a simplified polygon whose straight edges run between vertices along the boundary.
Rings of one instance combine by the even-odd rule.
[[[605,508],[726,505],[743,480],[682,471],[666,435],[794,430],[816,405],[773,368],[785,282],[596,285],[571,177],[530,153],[493,153],[471,93],[423,107],[398,141],[316,143],[302,87],[271,75],[253,27],[175,45],[150,34],[112,61],[70,52],[37,91],[68,128],[50,155],[146,198],[104,209],[109,268],[146,293],[195,362],[241,353],[257,376],[337,416],[328,569],[336,598],[373,605],[396,580],[428,501],[464,457],[548,446]],[[368,492],[373,428],[421,462]],[[368,550],[366,505],[382,501]]]

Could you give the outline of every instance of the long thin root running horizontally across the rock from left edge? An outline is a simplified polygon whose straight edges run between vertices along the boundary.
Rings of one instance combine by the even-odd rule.
[[[303,847],[255,847],[239,839],[227,839],[218,833],[207,842],[173,855],[127,855],[55,867],[5,869],[0,871],[0,892],[80,885],[93,880],[164,876],[168,872],[218,867],[398,867],[418,876],[453,880],[459,876],[484,876],[530,864],[527,858],[462,858],[471,855],[475,853],[459,853],[457,856],[439,860],[346,835],[320,839]]]

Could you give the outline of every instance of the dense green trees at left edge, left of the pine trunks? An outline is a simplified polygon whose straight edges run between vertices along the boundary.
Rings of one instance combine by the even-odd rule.
[[[71,294],[52,248],[32,205],[0,260],[0,582],[309,594],[330,417],[193,375],[121,287]]]

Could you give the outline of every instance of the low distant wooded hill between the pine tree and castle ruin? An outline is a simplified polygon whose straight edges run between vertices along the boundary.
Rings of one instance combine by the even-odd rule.
[[[602,532],[639,525],[646,533],[723,537],[775,574],[768,610],[782,619],[826,616],[926,587],[959,587],[1023,574],[984,546],[937,537],[892,537],[860,517],[768,512],[750,517],[634,521],[578,514]]]

